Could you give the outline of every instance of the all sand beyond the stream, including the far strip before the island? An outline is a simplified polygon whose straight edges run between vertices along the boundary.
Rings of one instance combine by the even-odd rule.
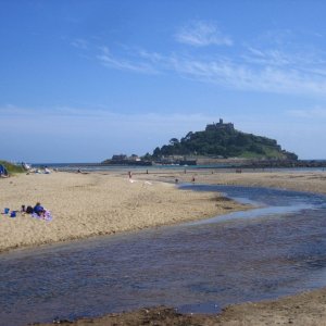
[[[0,179],[0,211],[36,202],[52,222],[0,215],[0,251],[206,218],[247,209],[212,192],[180,191],[174,183],[263,186],[326,193],[326,172],[225,173],[210,170],[52,173]]]

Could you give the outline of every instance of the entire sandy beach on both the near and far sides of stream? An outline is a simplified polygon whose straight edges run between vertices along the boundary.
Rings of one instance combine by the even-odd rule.
[[[27,215],[0,215],[0,250],[39,246],[90,236],[205,218],[248,209],[216,193],[176,189],[174,181],[264,186],[326,193],[324,172],[220,173],[171,171],[134,173],[133,183],[121,173],[52,173],[0,179],[0,205],[20,209],[40,201],[53,221]],[[155,308],[101,318],[79,319],[76,325],[326,325],[326,289],[274,301],[226,308],[218,315],[180,315]],[[65,323],[62,323],[65,325]]]

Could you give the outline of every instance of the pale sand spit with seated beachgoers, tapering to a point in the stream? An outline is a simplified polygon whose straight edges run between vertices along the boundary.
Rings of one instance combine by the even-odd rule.
[[[52,173],[0,180],[0,210],[40,202],[46,222],[0,215],[0,251],[205,218],[246,209],[216,193],[178,190],[172,184],[129,181],[126,174]]]

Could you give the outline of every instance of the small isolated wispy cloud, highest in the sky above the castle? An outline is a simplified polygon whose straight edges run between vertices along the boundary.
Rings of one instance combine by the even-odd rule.
[[[175,38],[178,42],[195,47],[233,46],[230,37],[223,35],[213,23],[202,21],[181,27]]]

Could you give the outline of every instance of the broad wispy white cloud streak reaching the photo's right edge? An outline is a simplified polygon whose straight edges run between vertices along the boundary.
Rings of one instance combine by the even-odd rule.
[[[296,67],[252,66],[230,60],[173,58],[173,68],[192,79],[240,90],[326,95],[326,78]]]

